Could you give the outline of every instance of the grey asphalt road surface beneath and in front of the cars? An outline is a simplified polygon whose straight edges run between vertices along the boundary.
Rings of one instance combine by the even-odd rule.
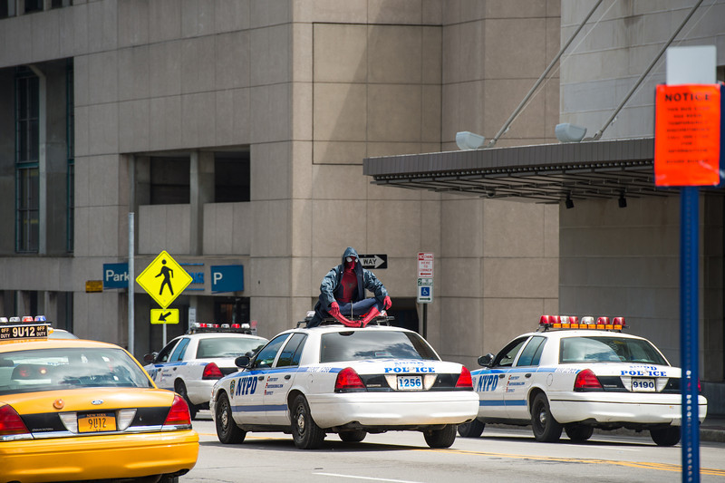
[[[248,433],[242,444],[223,445],[208,411],[199,418],[198,463],[180,483],[682,480],[681,447],[657,447],[647,433],[537,443],[530,429],[499,426],[478,439],[459,437],[449,449],[429,449],[417,432],[389,432],[360,443],[329,435],[323,449],[302,451],[283,433]],[[725,481],[725,443],[702,442],[700,451],[701,481]]]

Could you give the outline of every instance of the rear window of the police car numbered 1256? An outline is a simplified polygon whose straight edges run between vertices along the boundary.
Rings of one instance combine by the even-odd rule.
[[[417,333],[349,331],[324,333],[320,362],[362,361],[365,359],[420,359],[439,357]]]

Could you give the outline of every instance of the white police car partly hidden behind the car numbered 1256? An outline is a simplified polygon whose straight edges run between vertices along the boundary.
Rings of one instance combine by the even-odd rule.
[[[183,397],[194,419],[198,410],[208,408],[214,382],[238,371],[234,360],[267,342],[249,332],[247,324],[195,324],[160,353],[146,354],[144,369],[157,386]]]

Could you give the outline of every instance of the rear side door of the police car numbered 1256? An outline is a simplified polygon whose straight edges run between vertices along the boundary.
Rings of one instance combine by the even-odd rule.
[[[269,424],[289,425],[287,392],[295,383],[295,374],[307,340],[306,333],[293,333],[275,362],[275,370],[266,375],[264,404]]]

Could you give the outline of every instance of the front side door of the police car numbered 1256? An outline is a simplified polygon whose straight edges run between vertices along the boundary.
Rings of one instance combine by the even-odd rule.
[[[266,424],[264,406],[266,376],[271,371],[277,353],[289,337],[289,333],[277,335],[258,353],[252,365],[240,372],[229,386],[232,415],[240,424]]]

